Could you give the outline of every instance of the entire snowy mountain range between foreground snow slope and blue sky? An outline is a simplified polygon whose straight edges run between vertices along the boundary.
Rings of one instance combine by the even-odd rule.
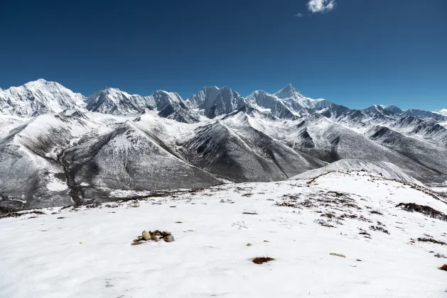
[[[349,109],[290,84],[246,97],[204,87],[183,100],[162,90],[141,96],[114,88],[86,97],[38,79],[0,91],[0,206],[286,180],[345,159],[441,184],[446,127],[441,114],[394,105]]]

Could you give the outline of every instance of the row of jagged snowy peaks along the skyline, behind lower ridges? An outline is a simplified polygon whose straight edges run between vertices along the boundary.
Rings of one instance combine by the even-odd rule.
[[[241,96],[228,87],[203,87],[197,94],[183,101],[174,92],[158,90],[149,96],[128,94],[120,89],[102,87],[89,97],[82,96],[63,87],[57,82],[37,79],[21,87],[0,89],[0,114],[13,116],[37,116],[58,113],[65,109],[83,109],[103,114],[141,114],[147,110],[163,111],[168,117],[178,118],[188,123],[200,121],[200,117],[215,118],[225,116],[244,108],[247,113],[270,119],[293,119],[320,112],[330,118],[343,121],[379,121],[385,118],[416,116],[433,121],[447,121],[447,116],[417,109],[399,109],[398,106],[373,105],[367,109],[344,110],[335,108],[326,99],[311,99],[287,84],[283,89],[269,94],[257,90],[247,97]],[[334,116],[333,112],[337,115]]]

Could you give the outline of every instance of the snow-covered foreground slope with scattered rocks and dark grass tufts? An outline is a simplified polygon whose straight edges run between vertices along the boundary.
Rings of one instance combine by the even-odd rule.
[[[365,172],[331,172],[44,209],[1,219],[0,297],[445,297],[447,272],[437,267],[447,259],[434,255],[447,245],[417,238],[447,242],[447,222],[396,207],[447,214],[445,200]],[[156,229],[176,241],[130,245]],[[252,263],[263,256],[275,260]]]

